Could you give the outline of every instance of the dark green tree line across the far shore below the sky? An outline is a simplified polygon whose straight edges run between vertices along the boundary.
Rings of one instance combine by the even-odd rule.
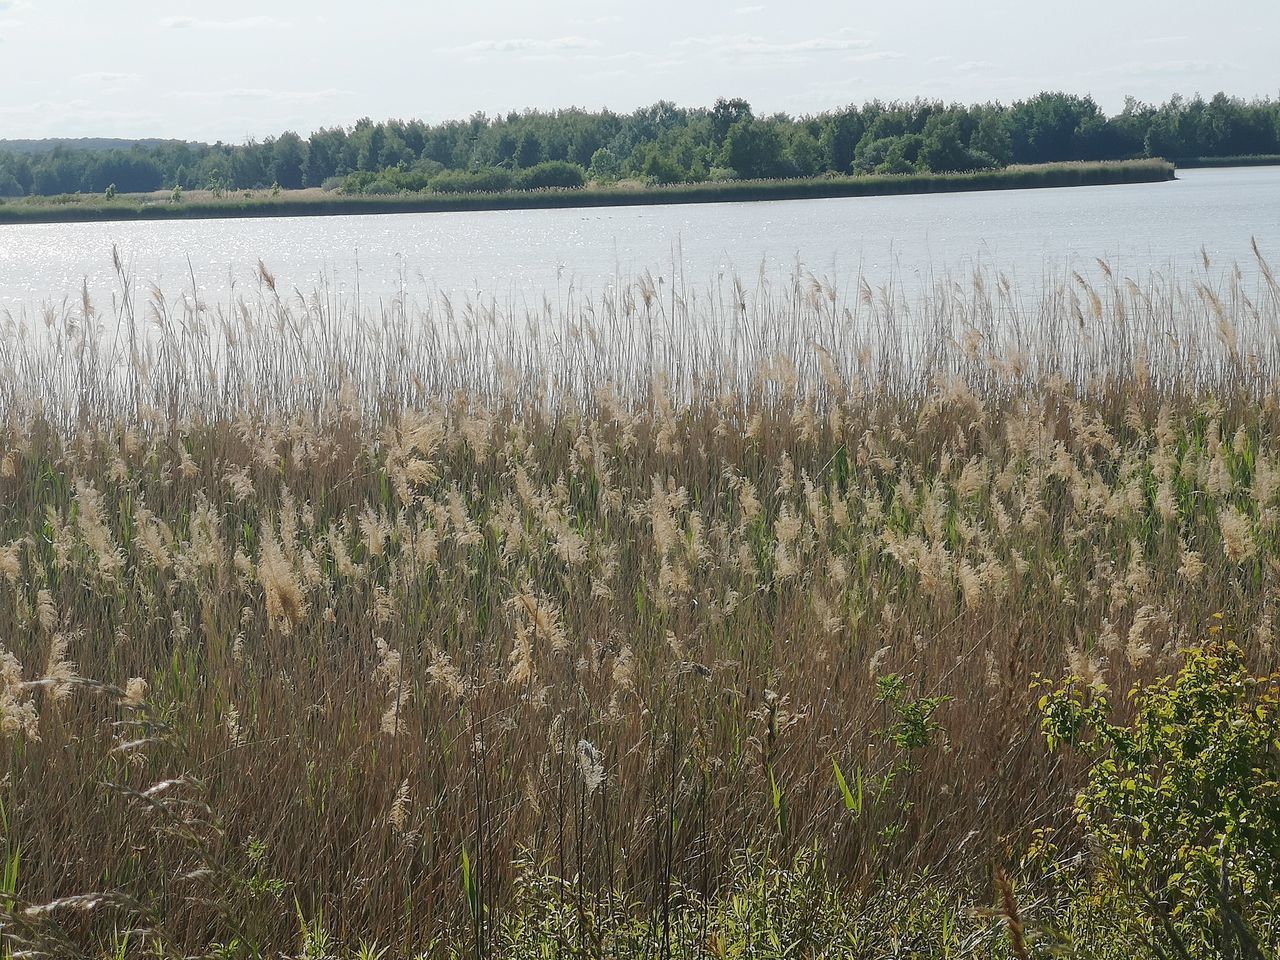
[[[438,124],[366,118],[306,138],[287,132],[238,145],[0,152],[0,196],[271,186],[397,193],[1274,154],[1280,154],[1280,100],[1225,93],[1175,96],[1161,105],[1129,99],[1114,115],[1092,97],[1061,92],[1010,105],[877,100],[812,116],[758,115],[742,99],[721,99],[710,108],[659,101],[630,114],[573,108],[477,113]]]

